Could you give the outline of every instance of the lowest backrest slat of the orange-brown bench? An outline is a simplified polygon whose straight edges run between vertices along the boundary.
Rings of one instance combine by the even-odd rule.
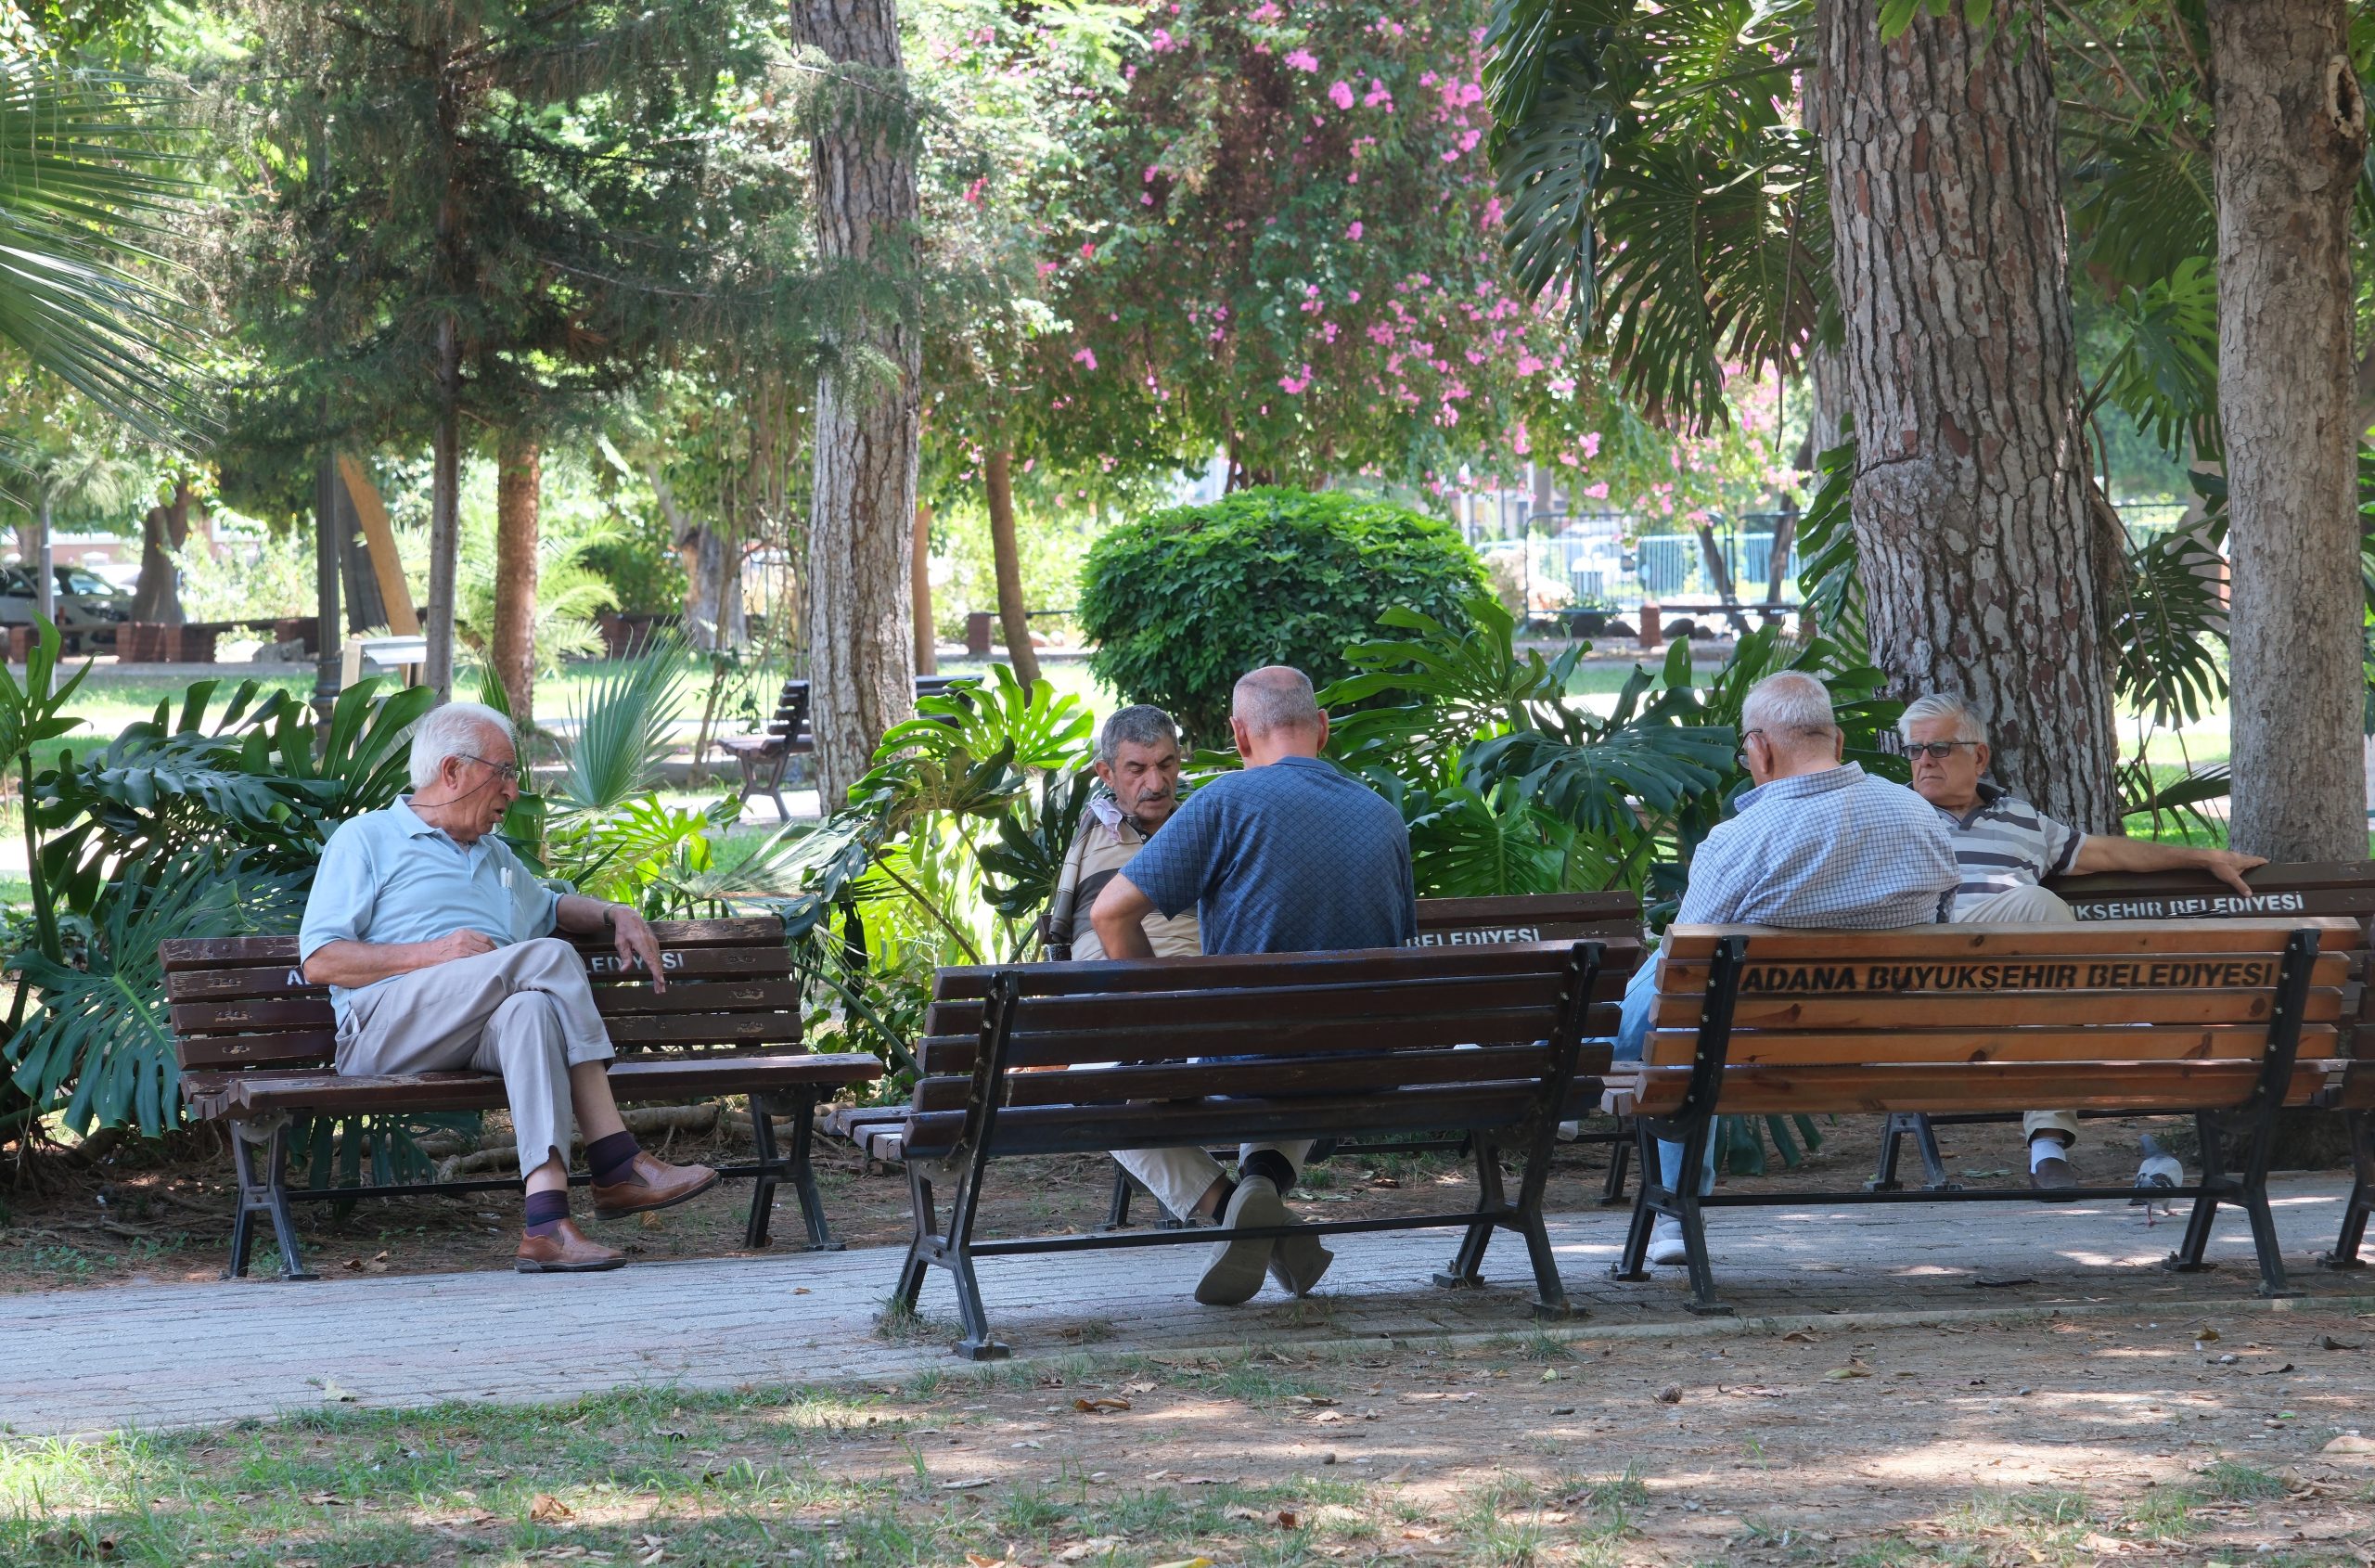
[[[2308,1105],[2330,1086],[2335,1062],[2304,1062],[2292,1074],[2285,1105]],[[2073,1109],[2230,1109],[2252,1095],[2259,1062],[2135,1062],[2104,1071],[2102,1062],[1971,1062],[1917,1067],[1727,1067],[1727,1114],[1864,1114],[1883,1112],[2026,1112],[2038,1105]],[[1689,1067],[1610,1074],[1610,1107],[1670,1114],[1691,1083]]]

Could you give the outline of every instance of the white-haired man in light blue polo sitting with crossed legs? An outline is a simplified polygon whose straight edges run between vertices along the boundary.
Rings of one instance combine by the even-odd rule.
[[[610,1098],[610,1036],[584,960],[553,931],[608,931],[656,991],[667,988],[660,946],[632,908],[546,886],[494,836],[520,796],[501,713],[432,710],[413,732],[411,779],[411,796],[330,836],[306,898],[297,950],[304,976],[330,986],[337,1069],[501,1074],[527,1178],[515,1266],[618,1269],[622,1252],[570,1224],[572,1112],[601,1219],[684,1202],[717,1186],[717,1171],[636,1147]]]

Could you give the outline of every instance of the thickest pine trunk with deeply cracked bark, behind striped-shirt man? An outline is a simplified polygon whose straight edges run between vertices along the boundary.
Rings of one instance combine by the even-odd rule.
[[[1893,694],[1986,715],[2004,784],[2104,832],[2116,736],[2042,12],[1978,43],[1917,14],[1883,45],[1872,0],[1822,0],[1872,649]]]

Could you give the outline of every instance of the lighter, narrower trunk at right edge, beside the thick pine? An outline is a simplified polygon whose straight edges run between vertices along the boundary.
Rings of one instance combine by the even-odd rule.
[[[2228,834],[2270,860],[2363,860],[2349,247],[2368,133],[2349,14],[2342,0],[2211,0],[2209,33],[2235,563]]]

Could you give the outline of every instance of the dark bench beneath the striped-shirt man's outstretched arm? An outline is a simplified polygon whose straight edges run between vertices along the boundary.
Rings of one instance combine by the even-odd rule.
[[[2104,872],[2097,877],[2062,877],[2054,893],[2071,905],[2078,919],[2244,919],[2332,915],[2351,919],[2358,931],[2344,938],[2328,931],[2323,953],[2346,953],[2356,1000],[2337,1019],[2339,1055],[2349,1057],[2344,1083],[2332,1090],[2328,1107],[2349,1121],[2351,1166],[2356,1181],[2344,1205],[2342,1233],[2332,1252],[2318,1257],[2325,1269],[2363,1269],[2358,1257],[2366,1238],[2368,1212],[2375,1209],[2375,986],[2368,986],[2368,924],[2375,917],[2375,860],[2304,860],[2263,865],[2244,872],[2252,898],[2242,898],[2228,884],[2202,872]],[[2346,1003],[2351,1000],[2346,995]],[[2080,1112],[2090,1114],[2090,1112]],[[2118,1112],[2092,1112],[2116,1117]],[[1874,1188],[1898,1186],[1898,1150],[1912,1140],[1921,1157],[1924,1183],[1948,1188],[1945,1159],[1938,1155],[1933,1126],[1957,1121],[2004,1121],[2016,1117],[1964,1114],[1964,1117],[1888,1117],[1881,1133],[1881,1157],[1872,1176]]]

